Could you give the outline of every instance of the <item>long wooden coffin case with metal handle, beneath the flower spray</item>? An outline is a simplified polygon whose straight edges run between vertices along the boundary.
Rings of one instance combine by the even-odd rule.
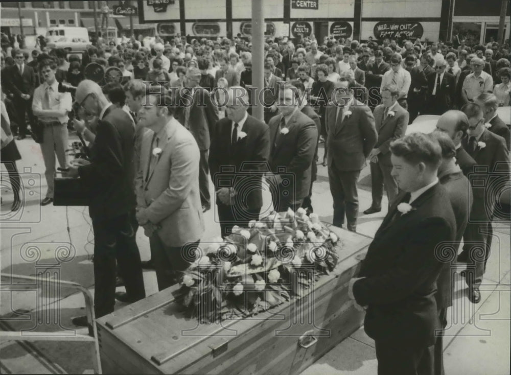
[[[371,239],[330,226],[339,263],[307,295],[264,313],[199,324],[173,302],[179,286],[97,321],[104,373],[298,374],[362,324],[347,295]]]

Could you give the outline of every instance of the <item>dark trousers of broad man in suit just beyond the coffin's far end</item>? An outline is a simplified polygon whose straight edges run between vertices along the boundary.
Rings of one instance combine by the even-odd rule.
[[[334,199],[334,219],[332,224],[342,227],[345,215],[347,229],[351,231],[357,229],[357,181],[359,175],[360,171],[339,171],[334,161],[328,166],[330,192]]]

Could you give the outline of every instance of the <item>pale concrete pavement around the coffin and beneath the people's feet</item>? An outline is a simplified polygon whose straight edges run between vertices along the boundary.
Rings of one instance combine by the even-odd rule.
[[[72,142],[73,137],[70,137]],[[9,213],[12,193],[7,174],[2,173],[2,220],[0,269],[2,274],[36,275],[51,273],[52,277],[73,281],[94,292],[91,254],[94,235],[86,207],[41,207],[46,183],[39,146],[30,138],[17,142],[23,159],[18,169],[24,181],[25,205],[15,216]],[[322,160],[322,145],[319,151]],[[318,165],[318,180],[313,188],[313,206],[320,219],[332,222],[332,197],[326,167]],[[213,192],[213,185],[211,185]],[[384,198],[385,199],[385,198]],[[357,230],[373,237],[386,208],[381,213],[363,215],[371,202],[369,169],[360,176],[360,214]],[[265,192],[265,207],[270,207]],[[383,202],[386,207],[387,202]],[[264,208],[264,207],[263,207]],[[203,239],[220,234],[214,210],[205,214]],[[472,304],[466,297],[462,280],[456,281],[454,306],[449,316],[452,324],[446,332],[446,374],[504,375],[509,373],[510,329],[510,230],[509,224],[496,224],[492,254],[481,286],[482,300]],[[69,246],[71,243],[73,246]],[[137,233],[137,244],[143,260],[150,257],[149,241],[143,231]],[[56,255],[57,254],[57,255]],[[60,260],[60,262],[59,262]],[[147,295],[157,291],[153,271],[144,271]],[[3,279],[3,282],[6,282]],[[119,291],[124,288],[118,288]],[[84,313],[81,294],[71,290],[34,292],[2,292],[0,315],[3,329],[34,329],[36,331],[75,330],[71,318]],[[116,310],[123,303],[117,302]],[[56,313],[58,312],[58,313]],[[37,324],[41,319],[43,324]],[[77,330],[85,333],[85,329]],[[68,342],[34,342],[30,345],[14,341],[0,342],[2,372],[12,373],[89,373],[94,363],[91,345]],[[355,332],[303,374],[376,374],[374,342],[363,332]]]

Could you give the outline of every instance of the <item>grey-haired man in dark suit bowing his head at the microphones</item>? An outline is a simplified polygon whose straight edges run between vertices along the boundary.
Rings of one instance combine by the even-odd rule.
[[[112,105],[93,81],[80,82],[75,99],[86,112],[99,117],[90,161],[80,159],[69,168],[69,175],[79,176],[91,197],[94,311],[98,318],[113,312],[116,262],[126,286],[127,294],[123,294],[123,300],[134,302],[146,296],[140,253],[129,215],[136,202],[133,191],[134,127],[129,114]],[[73,323],[86,326],[87,317],[74,318]]]

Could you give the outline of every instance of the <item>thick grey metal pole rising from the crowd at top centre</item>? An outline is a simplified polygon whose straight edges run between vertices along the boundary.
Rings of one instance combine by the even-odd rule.
[[[264,108],[259,94],[264,87],[264,0],[252,0],[252,85],[255,101],[252,116],[263,121]],[[262,100],[262,98],[261,98]]]

